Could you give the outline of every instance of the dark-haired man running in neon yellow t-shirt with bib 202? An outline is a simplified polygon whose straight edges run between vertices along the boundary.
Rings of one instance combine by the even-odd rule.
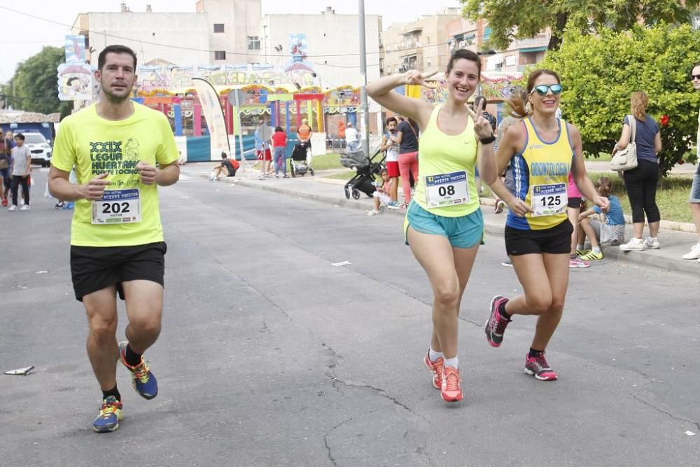
[[[87,355],[102,389],[94,431],[114,431],[122,419],[116,361],[132,373],[137,393],[158,394],[142,354],[160,334],[166,244],[158,185],[178,181],[178,149],[167,118],[130,100],[137,57],[125,46],[99,54],[97,104],[66,117],[57,134],[49,172],[51,195],[75,201],[71,274],[90,332]],[[78,184],[69,183],[76,167]],[[126,302],[127,342],[117,344],[117,300]]]

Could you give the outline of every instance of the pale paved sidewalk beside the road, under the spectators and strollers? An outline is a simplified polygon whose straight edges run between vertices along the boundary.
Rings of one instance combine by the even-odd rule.
[[[182,173],[193,177],[207,178],[211,172],[209,166],[186,165],[182,168]],[[349,207],[358,209],[363,215],[366,210],[372,209],[372,200],[364,193],[359,200],[346,200],[342,180],[323,179],[323,172],[316,172],[316,176],[311,177],[309,174],[295,179],[265,179],[258,180],[257,172],[255,176],[249,178],[246,174],[240,174],[235,178],[221,178],[219,183],[235,183],[239,186],[255,188],[258,190],[269,190],[284,195],[295,197],[304,197],[311,200],[325,202],[337,207]],[[505,228],[505,212],[503,214],[493,214],[493,200],[482,198],[482,211],[484,213],[484,226],[486,232],[491,235],[503,236]],[[400,223],[400,218],[404,216],[404,212],[398,209],[384,209],[385,216],[396,216],[397,223]],[[659,242],[661,248],[658,250],[645,251],[620,251],[617,247],[612,246],[605,249],[605,259],[603,261],[619,261],[621,263],[629,263],[634,265],[643,265],[657,267],[661,270],[680,272],[682,274],[691,274],[694,277],[700,277],[700,263],[697,260],[683,260],[682,255],[687,253],[692,245],[697,242],[697,236],[691,232],[683,232],[679,230],[671,230],[664,228],[664,225],[673,225],[674,223],[664,223],[661,221],[661,232],[659,232]],[[678,223],[675,223],[678,224]],[[398,224],[397,224],[398,225]],[[681,225],[687,228],[686,225]],[[678,226],[676,227],[678,228]],[[632,235],[631,225],[627,227],[626,237]],[[596,263],[595,261],[593,263]]]

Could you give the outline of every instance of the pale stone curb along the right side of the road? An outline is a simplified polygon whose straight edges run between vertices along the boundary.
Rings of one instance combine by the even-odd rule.
[[[333,185],[344,185],[345,182],[342,180],[333,179],[314,179],[316,183],[330,183]],[[230,182],[234,183],[234,182]],[[345,200],[342,197],[332,197],[328,195],[318,195],[315,193],[303,193],[297,190],[292,190],[289,188],[281,188],[279,186],[272,185],[262,185],[256,183],[255,181],[250,181],[246,179],[239,179],[235,182],[237,185],[245,186],[246,188],[254,188],[257,190],[267,190],[276,193],[283,193],[285,195],[304,197],[310,200],[315,200],[318,202],[323,202],[325,204],[332,204],[337,207],[348,207],[351,209],[361,209],[366,210],[370,208],[370,198],[363,197],[360,200]],[[363,202],[362,200],[366,201]],[[481,198],[482,206],[493,206],[495,200],[492,198]],[[390,215],[403,216],[405,211],[400,211],[398,209],[384,209],[384,213]],[[663,222],[663,221],[662,221]],[[503,236],[505,232],[505,224],[503,221],[493,222],[490,219],[484,217],[484,230],[490,235],[500,235]],[[695,277],[700,277],[700,264],[696,260],[682,260],[680,258],[667,258],[661,256],[656,250],[645,250],[645,251],[621,251],[615,247],[608,247],[605,249],[605,259],[612,260],[621,265],[640,265],[644,267],[654,267],[655,269],[664,270],[668,272],[679,272],[681,274],[690,274]]]

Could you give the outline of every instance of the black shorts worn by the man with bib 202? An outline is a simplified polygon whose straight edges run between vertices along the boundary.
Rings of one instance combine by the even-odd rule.
[[[124,300],[123,281],[146,280],[164,285],[165,242],[136,246],[73,246],[71,276],[76,300],[88,293],[117,285]]]

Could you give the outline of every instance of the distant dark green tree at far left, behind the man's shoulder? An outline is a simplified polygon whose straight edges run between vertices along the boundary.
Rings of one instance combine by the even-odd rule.
[[[73,103],[58,99],[57,67],[64,57],[62,48],[47,46],[20,63],[9,85],[3,88],[13,108],[38,113],[70,113]]]

